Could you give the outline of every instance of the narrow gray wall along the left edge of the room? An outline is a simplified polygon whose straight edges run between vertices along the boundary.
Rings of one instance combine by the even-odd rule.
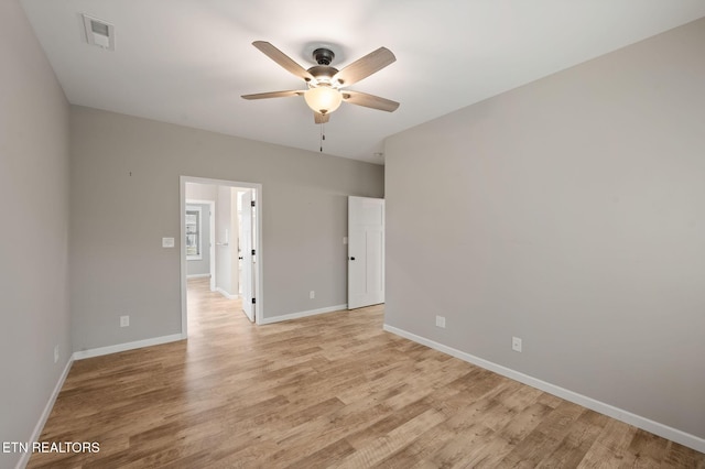
[[[15,0],[0,2],[0,441],[28,441],[72,351],[68,103]]]

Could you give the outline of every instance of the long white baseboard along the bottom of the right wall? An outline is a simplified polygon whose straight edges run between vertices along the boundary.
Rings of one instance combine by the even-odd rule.
[[[514,381],[519,381],[520,383],[524,383],[532,388],[536,388],[541,391],[545,391],[549,394],[553,394],[555,396],[562,397],[566,401],[582,405],[583,407],[587,407],[592,411],[599,412],[600,414],[605,414],[620,422],[625,422],[629,425],[633,425],[638,428],[650,432],[654,435],[659,435],[663,438],[668,438],[683,446],[687,446],[688,448],[695,449],[696,451],[705,452],[705,439],[699,438],[695,435],[691,435],[677,428],[673,428],[668,425],[663,425],[658,422],[651,421],[647,417],[632,414],[631,412],[625,411],[619,407],[615,407],[614,405],[606,404],[604,402],[594,400],[583,394],[578,394],[576,392],[566,390],[555,384],[541,381],[536,378],[530,377],[528,374],[521,373],[510,368],[502,367],[501,364],[497,364],[491,361],[481,359],[479,357],[475,357],[470,353],[466,353],[464,351],[454,349],[452,347],[444,346],[443,343],[438,343],[431,339],[426,339],[425,337],[416,336],[415,334],[408,332],[406,330],[399,329],[388,324],[384,324],[384,330],[387,330],[388,332],[392,332],[397,336],[404,337],[414,342],[424,345],[426,347],[431,347],[432,349],[447,353],[455,358],[459,358],[460,360],[467,361],[468,363],[473,363],[478,367],[485,368],[487,370],[494,371],[495,373],[501,374],[502,377],[507,377]]]

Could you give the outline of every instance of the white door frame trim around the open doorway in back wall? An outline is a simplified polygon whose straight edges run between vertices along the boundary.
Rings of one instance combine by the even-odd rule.
[[[181,241],[178,250],[181,255],[181,335],[185,339],[188,337],[188,308],[186,299],[186,183],[208,184],[212,186],[245,187],[254,189],[257,199],[257,273],[254,275],[257,288],[257,308],[254,308],[254,323],[262,324],[264,317],[264,243],[262,242],[262,185],[259,183],[243,183],[236,181],[210,179],[207,177],[180,176],[178,177],[178,200],[180,200],[180,222]]]

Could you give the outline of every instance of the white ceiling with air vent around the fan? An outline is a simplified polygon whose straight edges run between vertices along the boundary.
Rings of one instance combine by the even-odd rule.
[[[66,97],[88,106],[318,151],[303,89],[252,41],[313,65],[386,46],[397,62],[350,89],[401,102],[343,103],[324,152],[383,163],[383,139],[589,58],[705,17],[703,0],[22,0]],[[115,25],[116,51],[86,43],[82,13]]]

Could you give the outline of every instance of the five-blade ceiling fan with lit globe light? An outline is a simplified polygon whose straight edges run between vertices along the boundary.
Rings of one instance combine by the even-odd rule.
[[[254,41],[252,45],[291,74],[299,78],[303,78],[303,80],[306,81],[307,89],[242,95],[242,98],[245,99],[303,96],[306,105],[308,105],[308,107],[314,111],[314,121],[316,123],[328,122],[330,112],[338,109],[343,101],[387,112],[393,112],[399,107],[399,102],[392,101],[391,99],[343,89],[367,78],[397,61],[394,54],[392,54],[392,52],[387,47],[380,47],[377,51],[367,54],[365,57],[357,59],[341,70],[338,70],[330,66],[330,63],[335,58],[335,54],[327,47],[316,48],[313,52],[313,59],[318,65],[314,65],[313,67],[305,69],[286,54],[265,41]]]

